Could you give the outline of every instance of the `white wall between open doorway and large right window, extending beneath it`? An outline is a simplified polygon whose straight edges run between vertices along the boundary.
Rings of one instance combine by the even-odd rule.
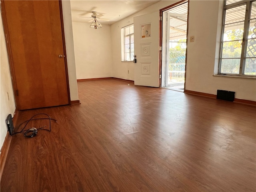
[[[236,92],[239,99],[256,101],[256,79],[213,76],[218,66],[222,1],[190,1],[186,65],[186,90],[216,94],[217,89]],[[216,67],[215,67],[215,72]]]

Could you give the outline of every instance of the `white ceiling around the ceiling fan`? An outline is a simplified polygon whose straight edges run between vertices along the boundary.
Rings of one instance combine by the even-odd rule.
[[[71,0],[72,21],[88,22],[92,19],[92,11],[96,11],[103,15],[101,18],[109,19],[109,21],[99,19],[100,23],[110,25],[156,2],[159,2],[159,0]]]

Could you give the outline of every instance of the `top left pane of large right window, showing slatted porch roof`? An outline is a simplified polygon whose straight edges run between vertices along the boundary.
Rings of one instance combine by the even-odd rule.
[[[233,27],[244,21],[246,5],[237,6],[226,10],[225,25],[233,23]],[[235,24],[234,24],[235,23]]]

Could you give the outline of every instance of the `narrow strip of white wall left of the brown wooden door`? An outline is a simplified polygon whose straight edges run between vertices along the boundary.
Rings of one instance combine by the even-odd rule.
[[[14,115],[15,101],[12,89],[12,80],[8,62],[8,55],[4,39],[2,16],[0,14],[0,148],[7,133],[5,119],[8,114]]]

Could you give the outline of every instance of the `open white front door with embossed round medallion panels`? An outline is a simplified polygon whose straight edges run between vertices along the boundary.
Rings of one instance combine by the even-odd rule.
[[[159,12],[134,17],[134,84],[159,87]]]

